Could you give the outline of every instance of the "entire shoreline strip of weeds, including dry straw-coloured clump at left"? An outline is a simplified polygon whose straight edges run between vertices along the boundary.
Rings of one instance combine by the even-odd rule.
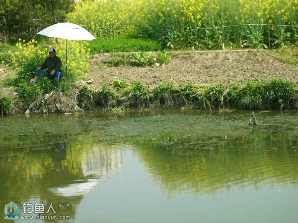
[[[246,84],[161,82],[149,88],[141,81],[130,84],[115,79],[95,89],[83,85],[65,94],[56,89],[24,106],[18,97],[1,97],[1,114],[54,113],[126,109],[245,109],[298,110],[298,88],[288,80],[271,79]]]

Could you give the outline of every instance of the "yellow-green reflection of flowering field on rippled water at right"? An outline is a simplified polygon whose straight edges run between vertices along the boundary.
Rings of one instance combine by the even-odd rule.
[[[139,153],[169,198],[184,190],[197,194],[237,185],[257,189],[268,183],[298,183],[298,140],[287,136],[186,137],[167,148]]]

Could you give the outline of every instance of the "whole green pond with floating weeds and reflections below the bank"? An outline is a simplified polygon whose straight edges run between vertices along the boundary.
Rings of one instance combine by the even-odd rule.
[[[295,223],[298,113],[255,114],[0,117],[2,208],[39,218],[24,223]]]

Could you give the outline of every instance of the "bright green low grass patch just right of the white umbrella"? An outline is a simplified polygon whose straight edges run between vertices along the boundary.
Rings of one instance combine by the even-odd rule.
[[[88,44],[91,55],[115,52],[148,52],[161,50],[161,45],[157,41],[126,37],[96,39],[88,42]]]

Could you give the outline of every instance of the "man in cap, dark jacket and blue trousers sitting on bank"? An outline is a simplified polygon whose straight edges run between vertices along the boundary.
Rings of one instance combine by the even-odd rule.
[[[56,56],[56,50],[54,48],[49,49],[49,57],[37,68],[37,77],[40,79],[40,76],[47,77],[49,79],[57,78],[59,83],[60,78],[63,76],[61,69],[61,59]],[[44,71],[42,69],[47,69]]]

